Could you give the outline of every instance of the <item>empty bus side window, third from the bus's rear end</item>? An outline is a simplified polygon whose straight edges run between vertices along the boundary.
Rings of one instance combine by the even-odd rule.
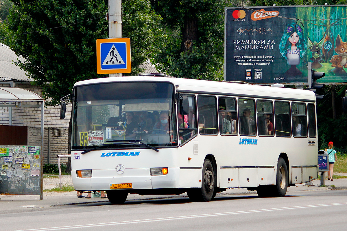
[[[275,101],[276,136],[291,136],[290,106],[287,101]]]

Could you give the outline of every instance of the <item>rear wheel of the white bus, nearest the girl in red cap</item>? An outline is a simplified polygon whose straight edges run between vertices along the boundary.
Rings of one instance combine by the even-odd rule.
[[[279,158],[277,162],[276,187],[274,196],[285,196],[288,188],[288,167],[283,158]]]

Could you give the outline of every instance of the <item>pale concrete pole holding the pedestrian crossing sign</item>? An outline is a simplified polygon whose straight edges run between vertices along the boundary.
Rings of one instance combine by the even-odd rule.
[[[109,38],[122,37],[122,0],[109,0]],[[109,77],[121,77],[121,73]]]

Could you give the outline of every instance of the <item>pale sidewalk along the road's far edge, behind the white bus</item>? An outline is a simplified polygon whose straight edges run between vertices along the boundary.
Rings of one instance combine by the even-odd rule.
[[[342,174],[340,174],[342,175]],[[58,178],[59,182],[59,178]],[[288,187],[287,195],[291,192],[298,192],[304,190],[334,190],[334,189],[347,189],[347,178],[334,179],[328,181],[325,179],[326,187],[320,187],[320,180],[313,180],[313,186],[306,186],[305,184],[297,184],[297,187]],[[335,187],[332,187],[334,185]],[[54,185],[55,186],[55,185]],[[225,192],[218,193],[219,195],[247,195],[256,194],[256,192],[250,192],[246,188],[234,188],[227,189]],[[86,196],[87,194],[84,193]],[[145,195],[140,196],[137,194],[129,194],[127,201],[142,201],[151,199],[164,199],[164,198],[187,198],[187,194],[181,195]],[[49,207],[60,206],[60,205],[77,205],[77,204],[88,204],[88,203],[108,203],[108,199],[101,198],[77,198],[77,193],[73,192],[45,192],[43,193],[43,200],[40,201],[40,195],[0,195],[0,213],[18,213],[18,212],[29,212],[33,209],[35,211],[44,210]]]

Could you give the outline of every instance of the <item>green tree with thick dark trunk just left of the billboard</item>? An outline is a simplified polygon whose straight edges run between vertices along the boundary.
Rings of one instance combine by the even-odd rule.
[[[223,79],[224,7],[219,0],[152,0],[166,34],[153,54],[159,70],[179,78]]]

